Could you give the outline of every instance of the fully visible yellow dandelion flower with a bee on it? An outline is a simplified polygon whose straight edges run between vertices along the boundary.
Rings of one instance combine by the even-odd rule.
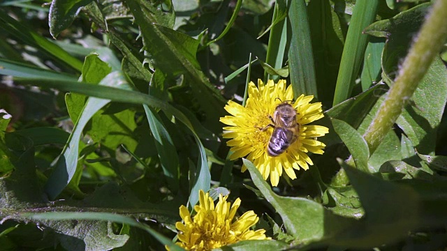
[[[264,84],[258,80],[258,87],[253,82],[249,83],[248,98],[246,106],[228,101],[225,106],[227,112],[232,116],[225,116],[220,121],[228,126],[223,128],[223,138],[230,139],[227,145],[231,147],[231,160],[247,156],[247,159],[254,163],[261,172],[263,178],[267,180],[270,176],[270,183],[277,186],[279,176],[282,171],[294,179],[296,178],[293,169],[309,169],[309,165],[314,165],[307,155],[310,153],[323,154],[325,144],[318,142],[317,137],[321,137],[329,132],[324,126],[308,125],[318,119],[323,118],[321,102],[310,103],[314,96],[300,96],[293,100],[292,86],[286,88],[286,81],[279,80],[274,84],[269,80]],[[296,111],[296,126],[291,144],[283,144],[282,149],[276,154],[269,154],[268,146],[270,137],[274,131],[272,119],[275,109],[281,102],[290,104]],[[286,131],[283,137],[286,137]],[[287,131],[291,134],[291,131]],[[279,134],[279,133],[278,133]],[[278,135],[277,134],[277,135]],[[286,140],[287,141],[287,140]],[[284,152],[283,152],[284,151]],[[270,150],[270,153],[272,151]],[[247,167],[242,167],[244,172]]]

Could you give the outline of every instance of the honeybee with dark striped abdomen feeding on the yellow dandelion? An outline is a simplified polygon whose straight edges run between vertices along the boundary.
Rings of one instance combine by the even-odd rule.
[[[269,115],[273,124],[268,124],[262,130],[273,128],[272,136],[267,147],[268,155],[276,157],[284,153],[293,142],[298,139],[300,125],[296,122],[298,113],[288,102],[282,102],[274,109],[273,117]]]

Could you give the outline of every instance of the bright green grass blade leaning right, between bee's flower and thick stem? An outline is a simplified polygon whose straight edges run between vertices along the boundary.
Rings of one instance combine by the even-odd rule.
[[[362,31],[374,22],[378,7],[379,0],[356,1],[344,43],[333,105],[337,105],[351,96],[368,42],[368,36]]]

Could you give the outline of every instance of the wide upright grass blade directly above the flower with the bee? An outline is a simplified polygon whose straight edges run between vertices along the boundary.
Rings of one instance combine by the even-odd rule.
[[[291,25],[291,45],[288,49],[288,64],[294,98],[301,94],[313,95],[316,91],[314,55],[309,30],[305,0],[288,1],[288,18]]]

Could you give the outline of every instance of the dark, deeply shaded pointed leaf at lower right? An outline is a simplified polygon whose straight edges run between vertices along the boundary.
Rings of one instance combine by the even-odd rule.
[[[418,211],[421,201],[415,190],[360,172],[343,164],[342,160],[339,163],[343,165],[365,208],[365,218],[360,225],[362,227],[344,233],[344,238],[356,233],[355,238],[350,237],[351,243],[346,244],[351,247],[372,248],[381,245],[380,243],[396,241],[423,224]],[[342,242],[346,241],[340,239]]]

